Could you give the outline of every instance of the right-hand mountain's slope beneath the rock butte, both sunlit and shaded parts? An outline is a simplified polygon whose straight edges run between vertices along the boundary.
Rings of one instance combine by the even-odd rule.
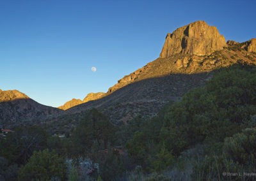
[[[143,69],[125,76],[109,88],[108,96],[74,106],[64,114],[86,112],[98,108],[112,122],[131,120],[138,115],[152,117],[168,101],[179,101],[189,89],[202,87],[212,77],[214,69],[243,60],[256,62],[256,54],[228,47],[211,55],[172,55],[150,62]],[[230,50],[228,50],[230,49]],[[135,78],[133,78],[135,76]],[[113,90],[113,92],[112,92]]]

